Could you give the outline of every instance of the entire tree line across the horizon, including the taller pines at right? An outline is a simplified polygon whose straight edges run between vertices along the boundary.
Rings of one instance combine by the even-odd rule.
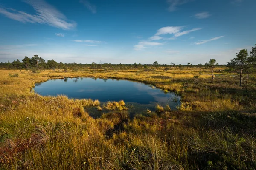
[[[253,74],[256,72],[256,45],[252,48],[252,51],[250,51],[250,54],[246,49],[242,49],[239,51],[239,53],[236,53],[236,57],[231,59],[230,62],[227,63],[227,65],[219,65],[215,59],[210,59],[208,63],[198,64],[198,65],[192,65],[191,63],[188,63],[187,65],[175,65],[174,63],[170,64],[164,64],[160,65],[157,61],[155,61],[153,64],[110,64],[110,63],[104,63],[100,62],[100,64],[97,64],[95,62],[91,64],[77,64],[77,63],[58,63],[55,60],[47,60],[47,62],[38,55],[34,55],[33,57],[29,58],[25,56],[22,61],[20,62],[19,59],[13,61],[13,62],[6,62],[0,63],[0,68],[3,69],[33,69],[33,70],[45,70],[45,69],[71,69],[73,71],[77,71],[79,68],[90,68],[90,69],[111,69],[111,70],[122,70],[122,69],[131,69],[131,68],[158,68],[158,67],[164,67],[166,70],[170,68],[209,68],[211,70],[212,79],[214,79],[214,69],[217,66],[227,66],[229,67],[229,71],[231,72],[239,72],[240,74],[240,86],[242,86],[243,82],[243,75],[246,74],[246,84],[248,84],[248,79],[250,74]]]

